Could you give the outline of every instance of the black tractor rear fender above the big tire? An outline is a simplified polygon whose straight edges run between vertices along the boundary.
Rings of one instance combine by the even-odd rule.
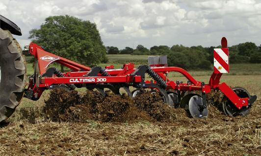
[[[18,27],[14,22],[6,19],[0,15],[0,28],[3,30],[9,30],[14,35],[22,35],[20,27]]]

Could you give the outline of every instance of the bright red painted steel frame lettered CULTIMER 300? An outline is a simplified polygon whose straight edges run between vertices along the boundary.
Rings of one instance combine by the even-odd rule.
[[[227,47],[227,43],[224,39],[222,39],[222,46]],[[132,73],[136,70],[134,68],[134,64],[129,63],[123,65],[121,69],[113,69],[114,67],[107,66],[105,67],[106,72],[110,76],[101,76],[98,74],[96,77],[85,77],[84,75],[88,74],[91,70],[90,67],[86,67],[80,65],[76,62],[70,61],[68,59],[59,57],[52,53],[49,53],[43,50],[40,46],[31,43],[29,45],[30,53],[34,55],[35,59],[38,61],[39,67],[39,84],[34,83],[30,80],[28,84],[28,89],[33,90],[33,95],[35,98],[39,98],[42,92],[45,89],[52,85],[59,85],[59,84],[101,84],[101,83],[139,83],[141,82],[141,76],[135,76]],[[63,73],[64,77],[41,77],[46,70],[48,69],[49,65],[53,62],[61,64],[65,67],[72,69],[73,71]],[[167,88],[166,89],[174,89],[174,90],[201,90],[204,93],[210,92],[211,89],[219,89],[221,90],[231,101],[234,105],[240,110],[243,106],[248,105],[248,98],[239,98],[235,92],[227,86],[225,83],[219,84],[220,78],[222,73],[215,73],[213,72],[209,79],[209,84],[203,85],[201,81],[197,81],[194,79],[186,70],[180,67],[151,67],[164,81],[166,81]],[[35,71],[37,72],[37,71]],[[183,74],[184,77],[188,79],[190,82],[176,84],[174,81],[166,79],[166,74],[169,72],[179,72]],[[151,81],[145,81],[146,84],[150,84]],[[156,84],[156,82],[154,82]]]

